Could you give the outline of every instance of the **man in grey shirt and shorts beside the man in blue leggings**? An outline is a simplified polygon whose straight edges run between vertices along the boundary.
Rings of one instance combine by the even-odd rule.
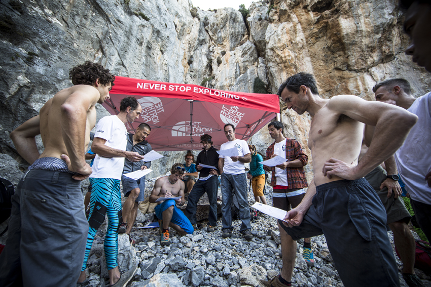
[[[151,145],[147,142],[147,137],[150,135],[151,128],[149,125],[142,122],[137,128],[136,133],[127,135],[127,151],[135,151],[140,155],[146,155],[151,151]],[[124,160],[123,175],[121,182],[123,183],[124,197],[127,197],[123,204],[123,222],[118,227],[118,233],[127,233],[130,237],[130,231],[136,220],[138,205],[145,197],[145,176],[138,180],[134,180],[124,176],[138,170],[146,170],[151,167],[151,161],[132,162],[127,158]],[[127,224],[128,223],[128,224]],[[130,237],[130,242],[133,239]]]

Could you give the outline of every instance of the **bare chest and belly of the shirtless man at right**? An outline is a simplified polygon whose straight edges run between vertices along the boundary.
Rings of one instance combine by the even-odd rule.
[[[315,185],[325,184],[342,178],[325,177],[322,168],[331,157],[353,165],[361,151],[364,124],[331,108],[331,100],[321,107],[311,120],[308,147],[313,158]]]

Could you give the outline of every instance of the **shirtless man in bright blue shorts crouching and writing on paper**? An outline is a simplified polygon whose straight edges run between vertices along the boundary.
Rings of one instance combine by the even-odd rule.
[[[159,201],[158,206],[155,208],[156,216],[159,219],[160,241],[162,245],[170,244],[169,226],[181,235],[193,234],[194,231],[190,220],[175,206],[176,203],[179,206],[183,206],[186,202],[184,199],[185,184],[181,180],[184,171],[184,166],[181,163],[175,163],[170,170],[170,176],[161,177],[156,180],[150,195],[151,203],[156,202],[160,197],[181,196],[181,198],[176,200],[167,199]]]

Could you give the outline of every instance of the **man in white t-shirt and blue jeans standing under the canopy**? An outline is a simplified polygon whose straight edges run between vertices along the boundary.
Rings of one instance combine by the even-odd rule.
[[[252,155],[248,149],[246,141],[235,138],[235,127],[226,124],[224,127],[227,143],[222,144],[220,151],[225,149],[237,148],[238,156],[219,156],[219,171],[221,173],[222,188],[222,223],[223,238],[232,236],[232,196],[235,192],[239,204],[239,218],[242,221],[241,232],[246,240],[253,238],[252,226],[250,225],[250,210],[247,200],[247,183],[245,176],[244,163],[252,161]]]

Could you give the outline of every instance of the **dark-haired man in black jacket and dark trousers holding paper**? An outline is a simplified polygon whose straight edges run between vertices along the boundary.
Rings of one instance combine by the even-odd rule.
[[[196,169],[199,173],[199,180],[193,186],[189,194],[186,215],[190,219],[193,227],[196,226],[196,204],[206,192],[209,201],[209,214],[207,232],[213,232],[217,224],[217,190],[219,186],[219,170],[215,168],[219,165],[219,154],[212,146],[212,137],[204,134],[200,137],[203,150],[199,152],[196,159]],[[204,167],[203,167],[203,166]],[[208,168],[213,167],[213,168]]]

